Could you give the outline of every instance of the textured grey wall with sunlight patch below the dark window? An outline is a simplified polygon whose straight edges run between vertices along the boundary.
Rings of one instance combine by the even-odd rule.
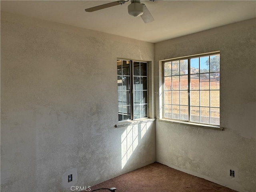
[[[114,128],[116,58],[153,61],[154,44],[1,12],[1,191],[70,191],[155,161],[154,122]]]

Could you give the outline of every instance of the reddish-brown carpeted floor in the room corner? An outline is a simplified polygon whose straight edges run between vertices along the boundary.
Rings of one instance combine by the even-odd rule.
[[[91,187],[116,188],[116,192],[236,192],[208,180],[160,163],[152,163]],[[97,190],[97,192],[109,190]]]

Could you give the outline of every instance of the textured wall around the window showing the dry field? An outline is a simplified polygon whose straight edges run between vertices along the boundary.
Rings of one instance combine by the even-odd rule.
[[[220,126],[156,123],[156,159],[241,192],[256,191],[256,20],[156,43],[156,62],[220,51]],[[156,90],[161,65],[156,65]],[[156,93],[156,114],[162,113]],[[235,178],[230,178],[230,169]]]

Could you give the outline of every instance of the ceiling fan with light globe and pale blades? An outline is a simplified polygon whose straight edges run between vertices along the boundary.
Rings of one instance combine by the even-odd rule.
[[[116,5],[122,5],[122,4],[124,4],[125,2],[128,2],[128,1],[124,1],[124,0],[115,1],[115,2],[111,2],[111,3],[91,7],[91,8],[85,9],[85,11],[86,12],[94,12],[94,11],[98,11],[98,10],[105,9],[105,8],[108,8],[108,7],[112,7],[112,6],[116,6]],[[134,17],[141,16],[144,23],[150,23],[150,22],[154,21],[154,18],[151,15],[151,13],[149,12],[146,5],[140,3],[140,1],[132,1],[131,0],[131,4],[128,5],[128,13],[130,15],[134,16]]]

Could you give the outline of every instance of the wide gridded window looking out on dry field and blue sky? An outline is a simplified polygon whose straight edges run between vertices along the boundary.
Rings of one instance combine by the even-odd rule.
[[[163,62],[164,118],[220,124],[220,54]]]

